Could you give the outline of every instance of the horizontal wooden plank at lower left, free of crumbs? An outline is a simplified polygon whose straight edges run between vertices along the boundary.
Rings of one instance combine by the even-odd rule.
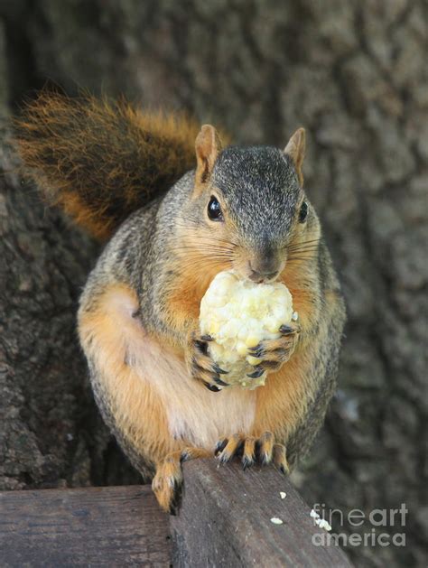
[[[0,565],[168,566],[171,540],[150,487],[0,493]]]

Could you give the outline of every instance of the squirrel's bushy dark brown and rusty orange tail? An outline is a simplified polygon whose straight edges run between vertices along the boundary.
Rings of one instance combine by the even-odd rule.
[[[24,171],[102,239],[195,165],[196,124],[125,102],[42,92],[14,126]]]

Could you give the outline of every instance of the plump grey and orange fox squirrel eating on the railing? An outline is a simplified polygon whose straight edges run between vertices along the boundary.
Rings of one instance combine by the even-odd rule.
[[[302,190],[304,130],[284,151],[222,149],[213,126],[198,130],[125,102],[46,93],[15,123],[23,167],[45,195],[111,237],[80,299],[79,339],[101,414],[165,510],[183,460],[295,465],[335,390],[345,321]],[[231,267],[283,282],[299,313],[300,327],[259,346],[271,372],[254,391],[219,391],[227,375],[199,331],[200,300]]]

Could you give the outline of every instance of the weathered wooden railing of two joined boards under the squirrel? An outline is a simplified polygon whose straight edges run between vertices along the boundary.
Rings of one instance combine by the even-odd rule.
[[[339,548],[312,544],[323,529],[274,468],[198,460],[184,480],[177,517],[148,486],[0,493],[0,566],[351,566]]]

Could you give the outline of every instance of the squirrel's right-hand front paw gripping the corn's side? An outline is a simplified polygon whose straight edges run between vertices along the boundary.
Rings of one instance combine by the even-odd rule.
[[[256,347],[248,349],[249,355],[261,359],[248,377],[256,378],[265,371],[277,371],[291,358],[299,338],[300,326],[282,325],[279,332],[281,333],[279,339],[264,340]]]

